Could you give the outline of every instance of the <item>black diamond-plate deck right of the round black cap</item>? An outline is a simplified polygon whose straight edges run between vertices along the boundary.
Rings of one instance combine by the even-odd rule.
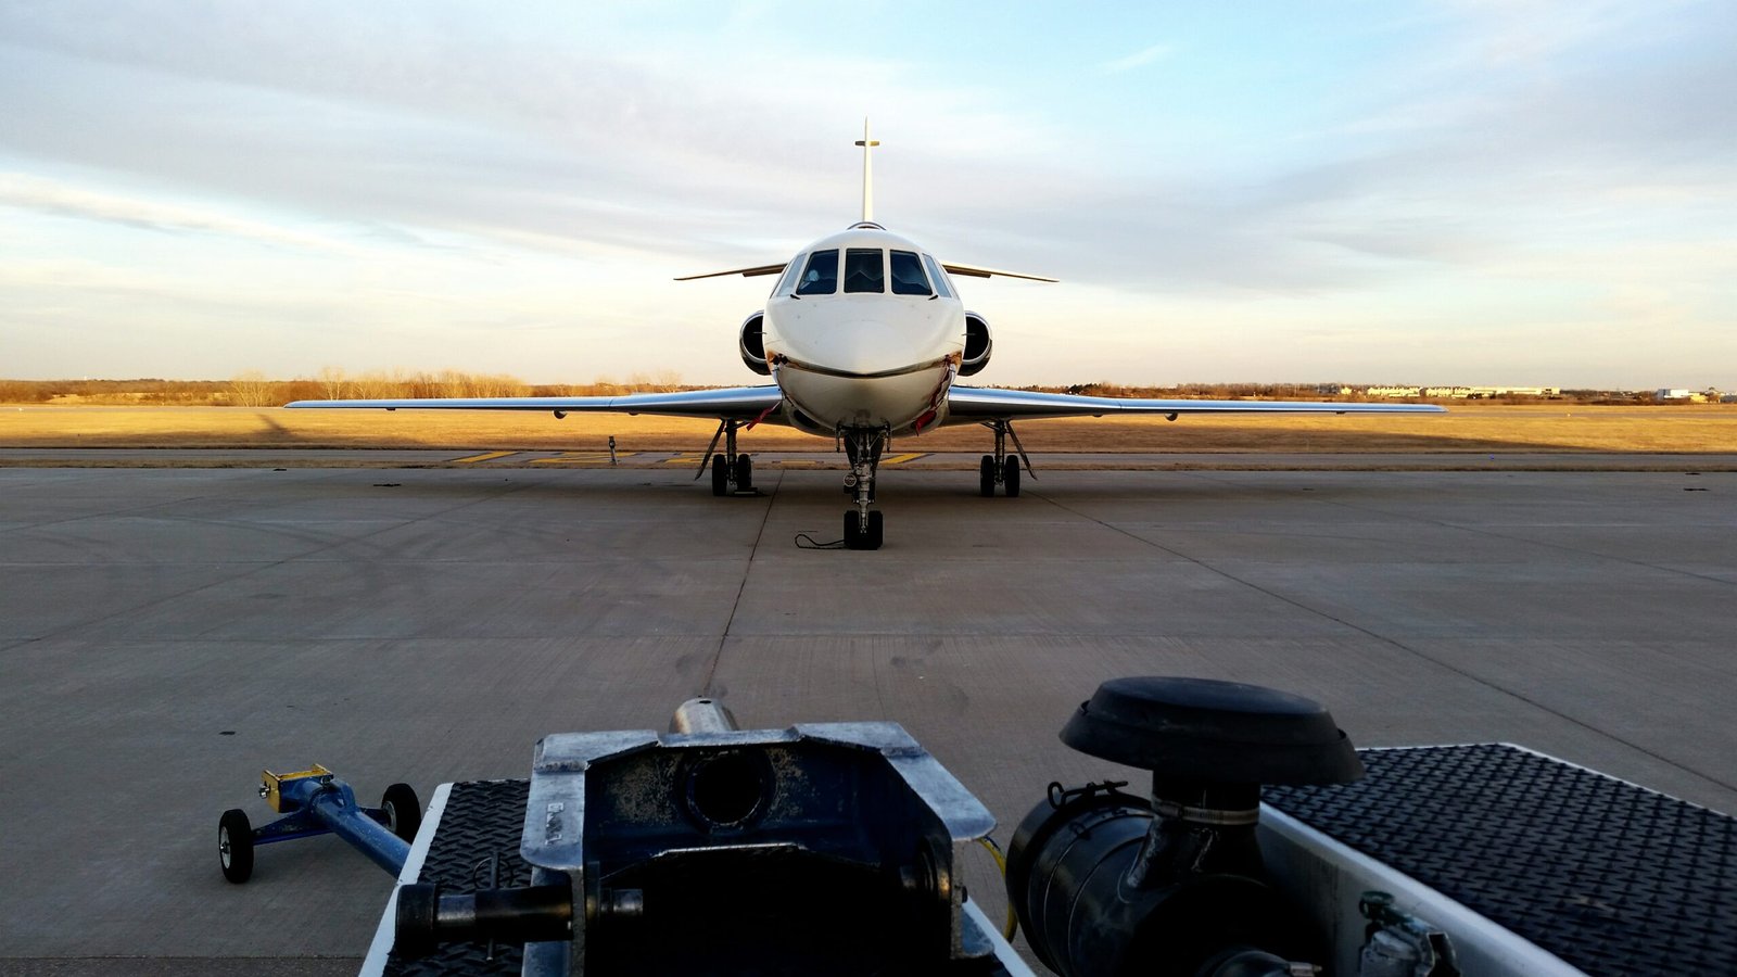
[[[1737,819],[1506,744],[1263,800],[1586,974],[1737,974]]]

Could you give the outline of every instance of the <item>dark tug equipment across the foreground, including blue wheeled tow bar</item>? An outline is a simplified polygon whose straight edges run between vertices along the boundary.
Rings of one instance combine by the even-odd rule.
[[[1353,751],[1226,681],[1106,681],[1061,739],[1152,788],[1051,784],[1014,833],[1007,902],[1060,975],[1737,974],[1723,814],[1508,744]],[[403,791],[267,772],[287,817],[228,812],[224,874],[346,836],[400,878],[363,974],[1034,974],[959,873],[994,821],[893,723],[695,699],[669,734],[547,735],[528,781],[441,784],[408,854]]]

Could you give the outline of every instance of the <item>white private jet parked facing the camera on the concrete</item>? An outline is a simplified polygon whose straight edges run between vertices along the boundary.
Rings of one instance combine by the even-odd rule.
[[[445,409],[445,410],[573,410],[716,417],[710,459],[712,494],[752,488],[754,459],[736,452],[736,431],[754,424],[787,424],[844,445],[851,471],[846,490],[856,504],[844,513],[849,549],[879,549],[882,522],[874,509],[875,471],[895,436],[921,435],[950,424],[981,424],[995,435],[995,452],[978,466],[980,490],[999,485],[1020,494],[1020,466],[1032,471],[1014,421],[1037,417],[1101,417],[1105,414],[1433,414],[1440,407],[1388,403],[1310,403],[1271,400],[1133,400],[1028,393],[957,386],[988,365],[994,342],[983,316],[966,311],[948,273],[973,278],[1009,276],[1054,282],[954,264],[915,242],[874,223],[874,172],[868,137],[863,148],[863,216],[848,229],[822,238],[790,261],[677,278],[780,275],[766,308],[742,322],[740,351],[749,370],[771,384],[624,396],[500,396],[413,400],[299,400],[288,407]],[[724,450],[714,454],[723,438]],[[1007,440],[1016,454],[1007,454]],[[702,462],[703,464],[703,462]],[[703,469],[702,469],[703,471]]]

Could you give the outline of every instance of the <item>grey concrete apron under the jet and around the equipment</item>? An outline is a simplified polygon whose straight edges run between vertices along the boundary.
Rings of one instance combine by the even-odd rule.
[[[1518,742],[1737,810],[1730,455],[1037,459],[1020,499],[912,459],[882,475],[886,548],[851,553],[794,542],[846,508],[802,464],[717,499],[651,459],[283,454],[0,454],[0,972],[353,972],[386,873],[330,838],[261,848],[245,887],[217,871],[217,815],[267,819],[262,767],[427,798],[700,692],[752,727],[900,721],[1002,841],[1051,781],[1138,777],[1056,739],[1120,675],[1273,685],[1358,746]]]

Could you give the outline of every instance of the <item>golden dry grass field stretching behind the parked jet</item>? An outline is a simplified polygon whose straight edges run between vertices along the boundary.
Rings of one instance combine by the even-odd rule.
[[[700,450],[709,421],[516,410],[283,410],[250,407],[0,407],[0,447],[307,447]],[[1737,405],[1582,407],[1466,403],[1442,415],[1195,415],[1032,421],[1032,452],[1737,452]],[[816,450],[789,428],[742,435],[745,450]],[[980,452],[988,433],[947,428],[898,450]]]

